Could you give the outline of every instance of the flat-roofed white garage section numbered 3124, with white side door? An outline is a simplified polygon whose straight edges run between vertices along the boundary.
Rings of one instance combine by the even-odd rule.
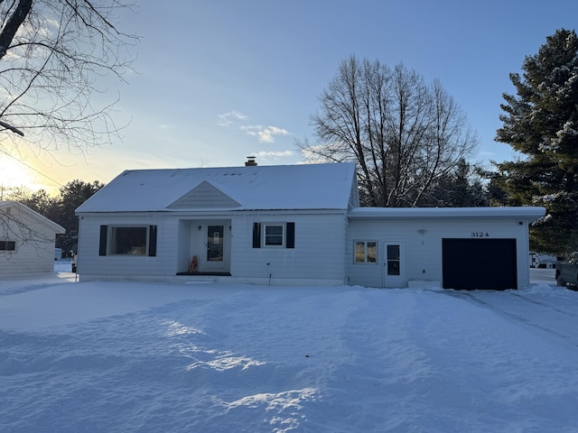
[[[346,278],[378,288],[523,289],[528,226],[544,214],[544,207],[354,208]],[[395,275],[391,245],[399,252]]]

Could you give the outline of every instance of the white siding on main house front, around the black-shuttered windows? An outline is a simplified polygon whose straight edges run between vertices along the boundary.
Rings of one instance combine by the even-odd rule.
[[[210,217],[205,217],[212,220]],[[220,221],[223,215],[215,216]],[[343,284],[344,282],[344,220],[345,212],[311,215],[279,215],[263,212],[229,214],[226,228],[230,226],[230,274],[233,281],[271,284],[292,284],[310,281],[318,284]],[[253,226],[279,225],[280,220],[294,222],[294,248],[253,248]],[[131,257],[129,255],[98,255],[99,227],[132,225],[158,225],[156,257]],[[286,224],[284,227],[286,230]],[[177,215],[131,214],[84,216],[80,218],[79,274],[87,280],[97,276],[144,278],[145,276],[175,276],[188,269],[191,251],[180,237],[191,238],[201,233],[196,223]]]

